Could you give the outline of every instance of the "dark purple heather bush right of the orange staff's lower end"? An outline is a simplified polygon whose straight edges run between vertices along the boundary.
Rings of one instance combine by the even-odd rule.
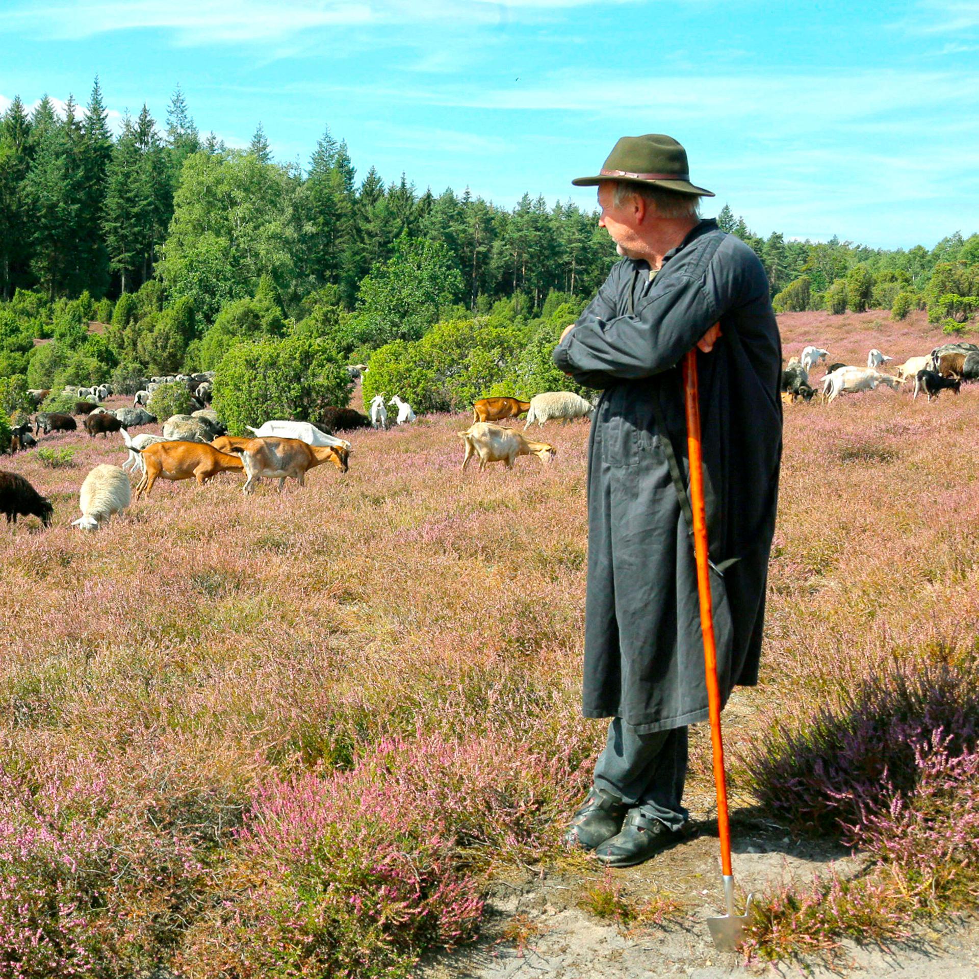
[[[849,832],[857,841],[854,827],[888,799],[916,791],[918,746],[942,731],[949,732],[944,749],[955,756],[979,740],[976,671],[892,667],[842,689],[801,723],[777,723],[744,757],[769,813],[799,832]]]

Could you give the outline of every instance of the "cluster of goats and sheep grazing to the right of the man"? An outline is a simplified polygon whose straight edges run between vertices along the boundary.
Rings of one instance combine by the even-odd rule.
[[[809,383],[809,372],[828,356],[829,350],[807,347],[801,357],[789,360],[782,371],[782,399],[786,403],[800,398],[811,401],[816,396],[816,389]],[[924,392],[931,401],[946,389],[957,395],[963,381],[979,381],[979,347],[975,344],[944,344],[925,356],[910,357],[895,374],[879,370],[893,359],[880,350],[870,350],[866,367],[829,364],[822,378],[822,398],[826,402],[835,401],[840,395],[873,391],[882,384],[900,391],[913,381],[914,397]]]

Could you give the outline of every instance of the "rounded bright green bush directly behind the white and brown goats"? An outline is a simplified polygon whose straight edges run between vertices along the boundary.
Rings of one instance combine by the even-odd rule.
[[[212,407],[230,434],[245,435],[246,425],[272,418],[315,421],[330,405],[346,407],[352,386],[341,361],[315,341],[240,343],[217,367]]]

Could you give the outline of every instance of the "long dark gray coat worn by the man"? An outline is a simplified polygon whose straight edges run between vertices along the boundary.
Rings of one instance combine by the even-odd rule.
[[[688,487],[679,363],[698,352],[700,412],[718,672],[723,702],[753,685],[765,619],[782,411],[781,345],[761,262],[701,221],[650,279],[645,261],[612,269],[554,362],[604,389],[588,444],[585,717],[652,732],[707,718],[693,538],[663,433]]]

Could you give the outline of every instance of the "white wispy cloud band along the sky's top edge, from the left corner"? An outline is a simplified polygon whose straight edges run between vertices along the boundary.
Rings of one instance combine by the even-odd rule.
[[[635,0],[611,0],[626,4]],[[594,0],[78,0],[20,2],[0,24],[56,38],[120,30],[171,31],[186,46],[281,41],[316,28],[534,21]]]

